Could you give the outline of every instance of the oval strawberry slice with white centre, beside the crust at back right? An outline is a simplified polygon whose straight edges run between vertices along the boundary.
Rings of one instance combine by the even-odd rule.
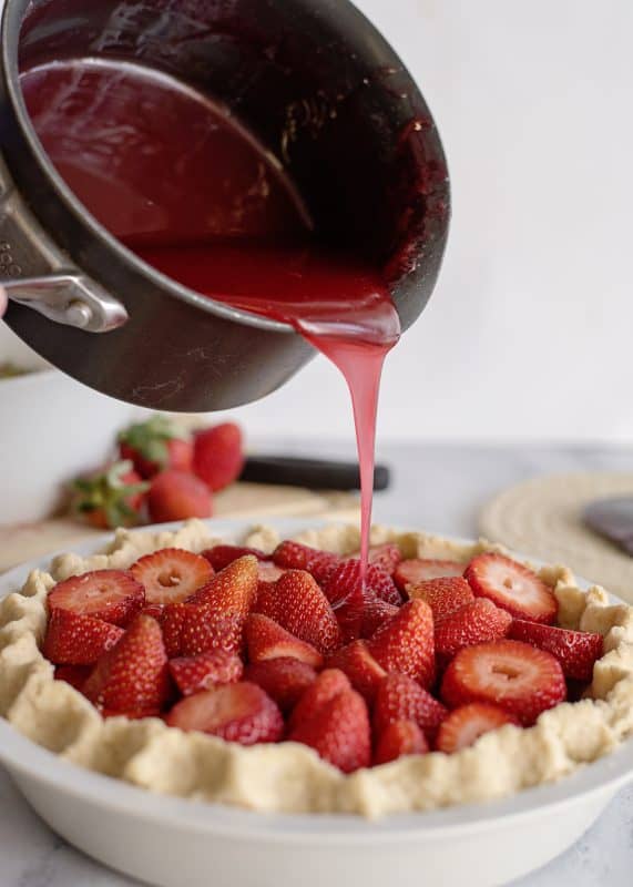
[[[478,598],[489,598],[514,619],[550,623],[557,618],[558,604],[551,588],[533,570],[503,554],[478,554],[464,577]]]

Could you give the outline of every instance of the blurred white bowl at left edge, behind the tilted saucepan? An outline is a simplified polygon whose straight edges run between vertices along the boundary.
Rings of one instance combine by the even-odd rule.
[[[0,363],[32,371],[0,379],[0,524],[39,520],[59,504],[64,483],[98,468],[134,407],[48,367],[0,324]]]

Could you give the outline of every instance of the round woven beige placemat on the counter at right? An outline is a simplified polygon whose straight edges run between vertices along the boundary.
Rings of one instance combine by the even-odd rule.
[[[510,487],[479,516],[482,536],[534,558],[564,563],[578,575],[633,603],[633,558],[582,522],[594,499],[633,496],[633,475],[554,475]]]

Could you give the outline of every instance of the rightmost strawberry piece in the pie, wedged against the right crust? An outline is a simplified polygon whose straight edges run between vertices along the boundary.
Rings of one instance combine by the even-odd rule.
[[[558,629],[515,619],[510,626],[510,638],[545,650],[561,663],[565,677],[591,681],[593,665],[602,656],[604,642],[601,634]]]

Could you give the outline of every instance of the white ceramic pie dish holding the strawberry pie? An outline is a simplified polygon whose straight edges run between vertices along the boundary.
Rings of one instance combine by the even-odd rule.
[[[288,536],[315,526],[269,523]],[[244,521],[210,524],[225,538],[247,527]],[[90,553],[102,542],[95,539],[79,551]],[[49,560],[1,577],[0,597]],[[629,742],[560,783],[506,801],[367,822],[251,813],[152,794],[69,764],[1,720],[0,761],[34,810],[71,844],[162,887],[502,885],[566,849],[633,779]]]

